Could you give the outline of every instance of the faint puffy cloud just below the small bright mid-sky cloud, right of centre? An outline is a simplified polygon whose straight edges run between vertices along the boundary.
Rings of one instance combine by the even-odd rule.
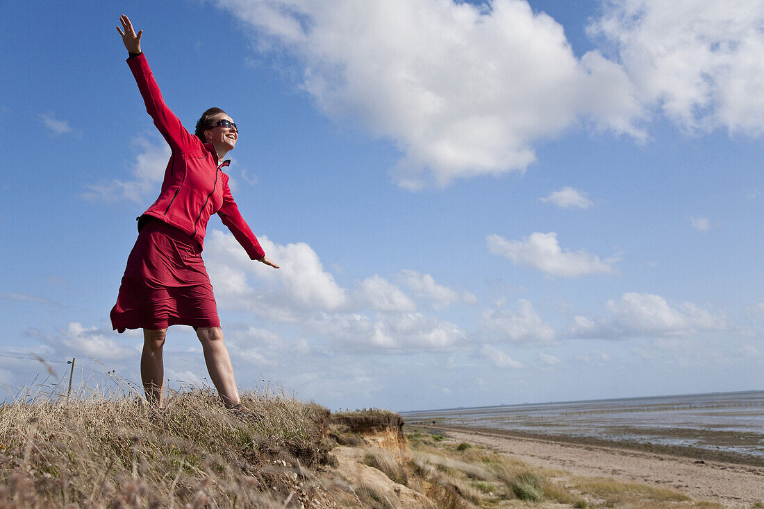
[[[481,330],[491,341],[509,343],[553,343],[555,330],[536,314],[533,304],[525,299],[517,301],[516,310],[504,308],[506,301],[483,312]]]

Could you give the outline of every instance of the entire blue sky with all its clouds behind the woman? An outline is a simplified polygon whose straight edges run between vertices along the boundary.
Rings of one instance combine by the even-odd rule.
[[[241,126],[213,217],[237,381],[396,410],[764,388],[761,2],[3,2],[0,383],[138,379],[108,311],[186,127]],[[166,377],[206,382],[173,327]],[[102,364],[95,362],[97,359]]]

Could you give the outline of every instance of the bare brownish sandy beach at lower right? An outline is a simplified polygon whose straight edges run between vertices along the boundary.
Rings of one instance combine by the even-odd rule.
[[[488,446],[533,465],[582,477],[607,477],[673,488],[695,501],[713,501],[725,507],[764,504],[764,467],[671,454],[651,453],[616,446],[558,442],[513,436],[512,433],[438,427],[461,442]]]

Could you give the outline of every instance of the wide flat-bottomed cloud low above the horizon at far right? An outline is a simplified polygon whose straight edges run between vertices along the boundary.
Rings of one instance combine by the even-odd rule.
[[[672,306],[659,295],[624,293],[608,301],[610,317],[590,320],[577,316],[571,333],[575,337],[625,339],[630,337],[693,336],[701,330],[729,330],[729,317],[713,313],[692,302]]]

